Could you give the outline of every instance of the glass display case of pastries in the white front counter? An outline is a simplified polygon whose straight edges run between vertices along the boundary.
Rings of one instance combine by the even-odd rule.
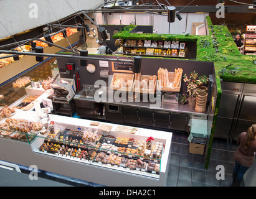
[[[164,139],[54,122],[42,126],[27,134],[33,152],[159,178]]]

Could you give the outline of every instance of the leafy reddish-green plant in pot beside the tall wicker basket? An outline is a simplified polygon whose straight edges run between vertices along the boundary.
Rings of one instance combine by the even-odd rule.
[[[198,78],[198,80],[197,80]],[[183,81],[187,85],[187,92],[189,93],[189,107],[194,108],[196,106],[196,93],[199,86],[207,83],[209,81],[209,78],[207,78],[206,75],[198,76],[198,73],[196,71],[191,72],[191,75],[188,77],[185,73],[183,75]]]

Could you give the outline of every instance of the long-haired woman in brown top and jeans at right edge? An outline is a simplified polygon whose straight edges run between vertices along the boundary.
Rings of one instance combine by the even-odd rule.
[[[239,187],[245,172],[252,166],[256,152],[256,124],[242,132],[237,138],[239,147],[235,151],[235,167],[233,170],[232,187]]]

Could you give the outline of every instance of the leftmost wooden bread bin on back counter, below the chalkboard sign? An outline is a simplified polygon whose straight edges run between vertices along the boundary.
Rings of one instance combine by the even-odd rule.
[[[131,91],[133,88],[133,74],[114,73],[111,80],[110,88],[120,91]]]

